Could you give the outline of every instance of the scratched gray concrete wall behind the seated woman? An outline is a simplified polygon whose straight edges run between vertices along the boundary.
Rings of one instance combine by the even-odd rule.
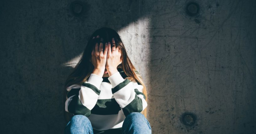
[[[1,1],[1,133],[64,132],[65,79],[100,27],[144,78],[153,134],[256,133],[254,0],[196,0],[194,17],[185,0],[71,2]]]

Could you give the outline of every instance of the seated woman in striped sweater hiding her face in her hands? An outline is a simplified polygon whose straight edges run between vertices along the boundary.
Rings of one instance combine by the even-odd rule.
[[[111,28],[91,35],[64,95],[65,134],[151,134],[146,87]]]

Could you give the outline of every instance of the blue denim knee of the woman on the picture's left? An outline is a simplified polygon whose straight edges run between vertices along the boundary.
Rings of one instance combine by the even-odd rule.
[[[93,134],[91,122],[84,115],[74,115],[66,125],[64,134]]]

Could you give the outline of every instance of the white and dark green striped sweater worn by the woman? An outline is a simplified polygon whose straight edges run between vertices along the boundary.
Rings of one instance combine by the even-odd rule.
[[[82,85],[67,87],[65,111],[85,115],[95,130],[121,129],[125,117],[147,107],[143,86],[121,68],[109,77],[91,74]]]

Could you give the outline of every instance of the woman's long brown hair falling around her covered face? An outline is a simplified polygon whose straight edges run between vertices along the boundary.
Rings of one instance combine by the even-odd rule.
[[[65,118],[66,122],[70,121],[71,117],[73,116],[73,114],[65,111],[65,101],[67,100],[67,92],[68,92],[66,90],[66,88],[73,84],[81,85],[91,75],[91,73],[94,69],[93,64],[90,62],[91,51],[95,47],[95,41],[92,40],[92,37],[96,37],[97,35],[99,35],[100,38],[103,38],[103,44],[105,44],[105,42],[111,42],[112,37],[115,39],[116,47],[118,47],[122,53],[122,55],[121,55],[122,63],[118,65],[118,68],[122,68],[127,77],[132,77],[133,79],[136,80],[136,82],[138,82],[139,84],[141,84],[143,86],[142,92],[146,96],[146,99],[145,99],[146,102],[148,102],[147,90],[143,83],[142,77],[138,73],[138,71],[135,69],[132,62],[130,61],[120,36],[113,29],[107,28],[107,27],[102,27],[92,33],[92,35],[89,38],[89,41],[86,45],[86,48],[83,52],[83,56],[80,58],[79,62],[76,64],[75,68],[73,69],[71,74],[66,79],[64,97],[63,97],[64,98],[63,99],[64,100],[64,103],[63,103],[64,109],[63,110],[64,110],[64,118]],[[104,48],[105,47],[103,45],[103,49]],[[103,50],[103,52],[104,52],[104,50]],[[147,107],[140,113],[142,113],[147,118]]]

